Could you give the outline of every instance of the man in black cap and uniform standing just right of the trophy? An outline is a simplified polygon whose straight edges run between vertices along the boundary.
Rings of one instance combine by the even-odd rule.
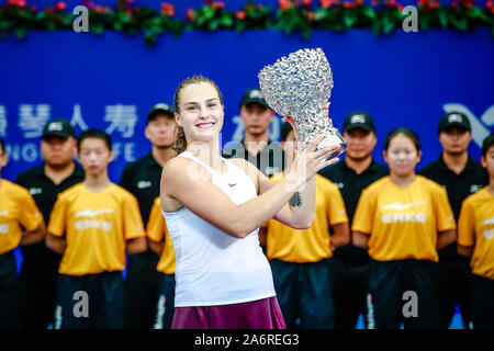
[[[378,179],[388,176],[388,168],[372,158],[378,141],[371,116],[352,112],[344,122],[344,137],[348,148],[343,162],[332,165],[319,173],[338,185],[349,223],[359,202],[360,193]],[[338,248],[333,259],[333,298],[335,302],[335,329],[352,329],[359,314],[367,316],[370,257],[367,250],[350,244]],[[364,324],[367,326],[367,318]]]

